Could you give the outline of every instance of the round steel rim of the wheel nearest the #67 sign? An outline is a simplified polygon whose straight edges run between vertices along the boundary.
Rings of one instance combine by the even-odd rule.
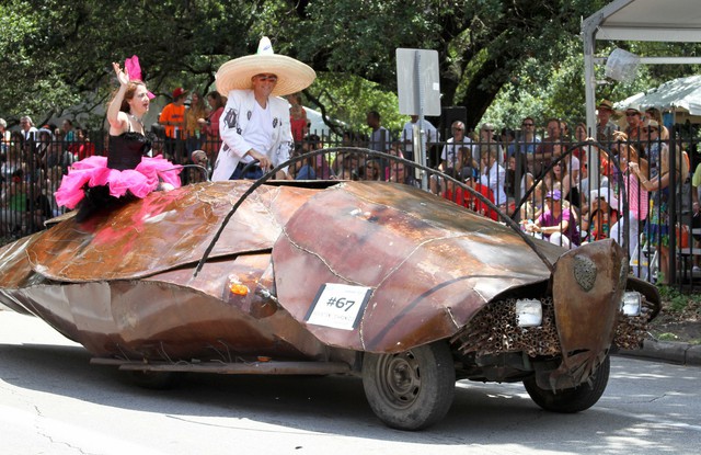
[[[387,402],[398,409],[411,407],[421,391],[418,361],[411,351],[382,355],[377,368],[377,384]]]

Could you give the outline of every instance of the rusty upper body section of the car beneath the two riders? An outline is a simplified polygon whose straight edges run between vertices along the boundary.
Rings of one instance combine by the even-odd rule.
[[[195,262],[250,184],[207,182],[154,192],[83,224],[64,221],[28,244],[26,254],[35,270],[65,282],[142,277]],[[313,193],[289,186],[257,189],[210,257],[272,248],[287,218]]]

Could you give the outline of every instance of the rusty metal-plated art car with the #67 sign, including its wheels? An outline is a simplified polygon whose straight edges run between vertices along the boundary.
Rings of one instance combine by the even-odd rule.
[[[439,421],[459,379],[522,382],[547,410],[585,410],[611,350],[640,345],[659,309],[610,240],[566,251],[403,184],[251,185],[65,216],[0,250],[0,302],[146,386],[358,375],[403,430]]]

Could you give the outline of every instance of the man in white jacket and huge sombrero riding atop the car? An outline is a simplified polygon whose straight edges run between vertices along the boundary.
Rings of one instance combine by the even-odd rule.
[[[219,133],[221,149],[211,180],[258,179],[289,159],[294,145],[287,101],[277,98],[309,87],[309,66],[273,53],[264,36],[255,55],[227,61],[217,71],[217,90],[228,96]],[[243,169],[258,160],[245,175]],[[278,178],[288,178],[287,169]]]

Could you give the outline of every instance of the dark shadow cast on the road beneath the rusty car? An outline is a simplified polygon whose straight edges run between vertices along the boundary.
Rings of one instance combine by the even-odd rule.
[[[596,407],[578,414],[542,411],[520,384],[497,385],[459,382],[446,419],[423,432],[404,432],[384,426],[371,412],[363,382],[354,376],[233,376],[188,375],[169,390],[135,386],[126,374],[111,366],[90,365],[90,354],[79,346],[47,344],[0,344],[0,379],[19,388],[59,394],[101,406],[148,411],[182,420],[229,418],[288,428],[290,432],[315,432],[380,441],[418,444],[504,444],[509,433],[520,435],[513,443],[558,450],[554,442],[591,440],[589,445],[607,453],[627,453],[611,446],[606,435],[625,432],[635,421],[609,414]],[[599,422],[599,423],[597,423]],[[573,428],[597,428],[596,434],[573,434]],[[532,437],[524,440],[524,431]],[[669,429],[664,439],[670,437]],[[599,434],[600,433],[600,434]],[[653,436],[651,435],[652,440]],[[566,443],[565,445],[567,445]],[[664,442],[660,442],[660,448]]]

